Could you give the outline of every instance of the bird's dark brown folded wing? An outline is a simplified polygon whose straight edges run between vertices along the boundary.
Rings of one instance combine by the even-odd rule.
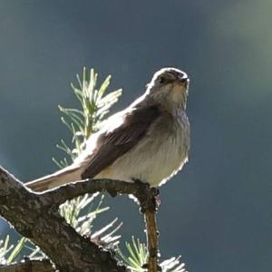
[[[131,150],[141,141],[149,130],[151,123],[160,116],[156,105],[132,110],[124,115],[121,125],[113,131],[105,131],[100,136],[102,142],[86,160],[88,164],[83,170],[82,179],[92,179],[114,160]]]

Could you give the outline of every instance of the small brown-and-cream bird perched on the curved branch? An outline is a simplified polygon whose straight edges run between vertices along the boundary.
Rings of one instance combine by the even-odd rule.
[[[187,73],[160,69],[138,99],[90,136],[71,165],[26,182],[26,187],[44,191],[86,179],[141,180],[160,187],[188,161],[188,93]]]

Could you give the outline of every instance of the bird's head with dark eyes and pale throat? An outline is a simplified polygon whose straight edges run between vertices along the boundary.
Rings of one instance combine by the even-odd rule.
[[[176,68],[162,68],[154,73],[151,83],[147,85],[146,94],[154,102],[167,108],[186,107],[189,77]]]

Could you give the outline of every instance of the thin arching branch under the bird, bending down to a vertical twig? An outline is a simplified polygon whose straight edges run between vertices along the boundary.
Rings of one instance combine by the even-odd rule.
[[[67,199],[74,199],[85,193],[107,191],[113,197],[117,194],[131,194],[135,196],[141,205],[146,225],[147,245],[149,248],[149,259],[146,267],[150,272],[157,272],[158,267],[158,231],[156,222],[156,211],[159,208],[157,197],[159,190],[150,188],[148,184],[135,180],[129,183],[121,180],[79,180],[66,184],[62,187],[47,190],[41,193],[41,199],[49,205],[60,205]]]

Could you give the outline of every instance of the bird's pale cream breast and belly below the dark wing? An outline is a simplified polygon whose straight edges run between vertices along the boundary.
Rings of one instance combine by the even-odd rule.
[[[162,114],[142,140],[115,160],[97,178],[132,181],[138,179],[153,187],[166,182],[187,161],[189,121],[185,113],[173,118]]]

